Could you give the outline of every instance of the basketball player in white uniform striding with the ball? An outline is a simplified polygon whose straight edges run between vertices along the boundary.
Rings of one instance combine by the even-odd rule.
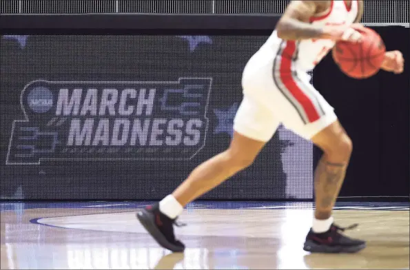
[[[309,84],[306,73],[336,41],[360,42],[360,31],[350,26],[360,21],[362,13],[363,3],[357,0],[289,3],[276,30],[243,71],[244,97],[229,149],[196,167],[173,194],[137,214],[158,244],[183,251],[185,247],[175,239],[173,227],[183,207],[251,165],[283,123],[324,152],[314,175],[316,210],[305,251],[353,253],[365,248],[365,241],[344,236],[344,229],[334,225],[331,211],[345,177],[352,143],[334,109]],[[386,52],[383,70],[398,74],[403,65],[400,52]]]

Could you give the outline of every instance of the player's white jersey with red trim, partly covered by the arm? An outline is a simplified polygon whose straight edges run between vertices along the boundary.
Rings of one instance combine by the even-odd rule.
[[[329,10],[310,19],[312,25],[351,25],[358,14],[358,1],[352,0],[347,7],[345,1],[331,1]],[[290,44],[294,43],[294,44]],[[329,39],[303,39],[301,41],[286,41],[278,38],[276,30],[265,43],[265,46],[279,46],[282,52],[293,54],[294,65],[298,70],[313,70],[323,57],[334,47],[335,42]],[[289,47],[293,47],[289,49]]]

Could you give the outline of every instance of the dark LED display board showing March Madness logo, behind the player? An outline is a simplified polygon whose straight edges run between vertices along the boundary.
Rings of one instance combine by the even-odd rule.
[[[243,67],[265,36],[7,35],[1,198],[159,199],[226,149]],[[203,196],[313,198],[311,143],[280,127]]]

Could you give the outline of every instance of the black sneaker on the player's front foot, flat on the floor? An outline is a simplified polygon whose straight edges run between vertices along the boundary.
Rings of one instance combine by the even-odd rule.
[[[357,226],[355,224],[341,228],[332,224],[329,231],[324,233],[314,233],[310,230],[307,233],[303,249],[311,253],[356,253],[366,247],[366,242],[344,236],[340,231],[353,229]]]

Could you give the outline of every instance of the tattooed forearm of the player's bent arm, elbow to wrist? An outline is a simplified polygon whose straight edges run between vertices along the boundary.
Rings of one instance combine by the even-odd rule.
[[[285,40],[316,39],[323,36],[323,29],[296,19],[283,19],[276,28],[278,37]]]

